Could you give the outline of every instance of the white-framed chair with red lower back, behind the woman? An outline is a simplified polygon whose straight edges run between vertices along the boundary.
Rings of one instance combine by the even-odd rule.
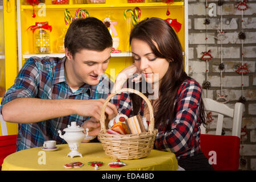
[[[209,159],[214,170],[237,171],[240,160],[240,136],[242,123],[242,103],[237,102],[234,109],[204,98],[205,110],[218,113],[216,135],[205,134],[201,125],[200,148]],[[224,115],[233,118],[232,136],[221,135]]]

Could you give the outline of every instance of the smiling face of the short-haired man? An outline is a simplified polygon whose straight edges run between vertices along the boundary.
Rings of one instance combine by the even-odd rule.
[[[71,73],[68,77],[72,76],[72,82],[75,81],[80,86],[84,84],[97,85],[101,75],[108,68],[110,57],[110,48],[106,48],[104,51],[82,49],[68,60],[71,63],[68,65],[72,67],[66,68]]]

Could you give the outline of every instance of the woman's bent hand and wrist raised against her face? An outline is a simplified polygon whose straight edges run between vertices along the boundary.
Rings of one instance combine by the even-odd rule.
[[[120,73],[118,73],[117,77],[115,78],[115,84],[113,86],[113,89],[111,93],[114,93],[115,91],[122,89],[123,84],[125,81],[133,76],[135,73],[138,73],[138,76],[133,78],[132,81],[140,82],[141,81],[141,72],[137,69],[135,64],[131,64],[129,67],[126,67],[123,69]]]

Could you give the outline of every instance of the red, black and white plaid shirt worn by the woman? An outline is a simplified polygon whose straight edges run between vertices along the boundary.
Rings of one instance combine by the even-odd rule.
[[[201,92],[200,84],[195,80],[188,79],[180,85],[175,101],[176,117],[172,122],[166,121],[168,125],[171,125],[171,130],[167,131],[160,125],[159,133],[156,135],[155,148],[174,152],[177,159],[193,156],[199,152]],[[112,102],[118,107],[119,112],[126,114],[127,117],[133,116],[133,106],[128,93],[115,95]],[[139,111],[141,115],[143,115],[144,104],[143,101]]]

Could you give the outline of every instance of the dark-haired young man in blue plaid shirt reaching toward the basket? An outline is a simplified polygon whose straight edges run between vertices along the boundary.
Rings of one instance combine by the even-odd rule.
[[[76,19],[64,44],[62,59],[28,59],[2,99],[3,119],[19,123],[17,151],[43,146],[45,140],[65,143],[57,131],[72,121],[92,137],[100,131],[101,107],[113,86],[104,75],[112,37],[100,20]],[[108,103],[105,114],[112,119],[117,108]]]

